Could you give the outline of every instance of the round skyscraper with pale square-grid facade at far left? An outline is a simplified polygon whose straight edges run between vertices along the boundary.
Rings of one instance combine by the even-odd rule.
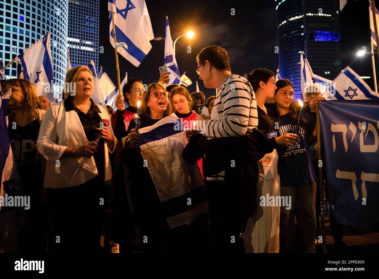
[[[4,0],[0,3],[0,59],[4,65],[51,32],[54,82],[64,81],[67,62],[68,0]],[[17,77],[17,63],[4,71]],[[58,90],[58,89],[57,89]]]

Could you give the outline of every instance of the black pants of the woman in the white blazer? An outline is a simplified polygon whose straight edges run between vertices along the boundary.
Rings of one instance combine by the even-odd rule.
[[[68,188],[48,188],[51,235],[56,252],[99,252],[109,185],[99,176]]]

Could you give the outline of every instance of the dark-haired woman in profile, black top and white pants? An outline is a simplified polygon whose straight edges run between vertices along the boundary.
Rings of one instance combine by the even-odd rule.
[[[276,90],[274,73],[258,68],[245,74],[255,92],[258,110],[258,130],[267,133],[269,148],[265,156],[258,161],[259,177],[257,183],[257,212],[249,219],[245,230],[245,252],[279,252],[279,214],[280,205],[270,204],[270,197],[280,196],[280,180],[277,172],[280,144],[294,145],[289,142],[290,135],[277,136],[274,129],[275,118],[265,106],[266,98],[273,98]],[[297,139],[298,136],[292,135]],[[276,200],[276,199],[275,199]]]

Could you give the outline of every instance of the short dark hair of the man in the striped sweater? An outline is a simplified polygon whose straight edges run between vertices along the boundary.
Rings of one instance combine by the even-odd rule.
[[[211,63],[211,65],[218,70],[231,71],[228,53],[222,47],[204,47],[204,49],[202,49],[196,55],[196,61],[199,64],[203,64],[205,60],[208,60]]]

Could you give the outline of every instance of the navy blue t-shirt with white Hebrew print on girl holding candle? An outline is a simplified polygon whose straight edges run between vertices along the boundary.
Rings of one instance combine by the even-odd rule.
[[[280,186],[298,186],[317,181],[313,168],[312,156],[309,151],[309,136],[315,130],[315,119],[303,113],[309,121],[307,127],[301,126],[299,129],[300,142],[294,146],[279,145],[278,172],[280,176]],[[280,126],[278,136],[285,133],[295,133],[297,123],[293,123],[290,114],[280,115]]]

